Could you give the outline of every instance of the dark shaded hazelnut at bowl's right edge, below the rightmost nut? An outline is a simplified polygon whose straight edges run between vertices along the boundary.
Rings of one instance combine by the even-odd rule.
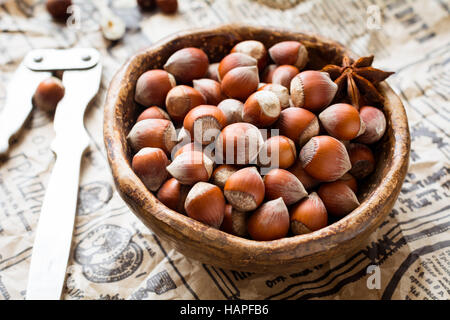
[[[351,143],[347,151],[352,164],[349,172],[356,179],[364,179],[375,170],[375,158],[369,147],[360,143]]]

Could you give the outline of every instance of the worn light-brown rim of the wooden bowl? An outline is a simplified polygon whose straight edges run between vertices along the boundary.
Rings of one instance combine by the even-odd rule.
[[[207,227],[203,223],[195,221],[185,215],[179,214],[160,203],[157,198],[149,192],[142,184],[140,179],[134,174],[130,167],[128,156],[125,146],[121,143],[121,134],[123,131],[123,123],[118,119],[116,115],[116,100],[120,99],[121,94],[125,90],[130,90],[120,85],[121,80],[126,76],[130,65],[133,61],[142,55],[148,54],[154,48],[157,48],[163,44],[167,44],[175,39],[184,37],[185,35],[201,34],[202,32],[225,32],[229,29],[239,30],[242,28],[254,29],[254,30],[269,30],[280,33],[298,34],[292,30],[283,30],[279,28],[264,28],[247,25],[225,25],[216,28],[190,30],[179,33],[175,36],[170,36],[163,39],[144,51],[141,51],[131,57],[123,67],[117,72],[114,79],[111,82],[110,90],[108,93],[108,99],[105,106],[105,122],[104,122],[104,135],[105,144],[108,152],[108,159],[110,166],[115,177],[117,188],[121,191],[122,195],[125,195],[127,202],[133,201],[142,206],[147,206],[151,211],[149,214],[157,219],[162,224],[165,224],[168,229],[172,229],[177,234],[182,235],[186,239],[190,239],[193,242],[201,243],[202,246],[208,246],[215,250],[230,250],[230,254],[236,252],[243,252],[250,254],[252,259],[263,260],[267,259],[268,255],[279,253],[284,256],[283,253],[293,252],[296,248],[299,248],[306,243],[312,248],[308,252],[304,252],[303,256],[313,255],[320,251],[331,250],[341,245],[341,243],[351,240],[358,236],[358,234],[364,232],[367,228],[372,227],[373,223],[376,223],[376,212],[374,208],[382,205],[383,199],[388,199],[390,193],[395,186],[403,182],[403,177],[397,173],[405,166],[405,162],[408,159],[404,157],[395,157],[392,159],[392,165],[386,174],[381,179],[381,183],[376,187],[373,193],[365,199],[361,205],[355,209],[352,213],[342,218],[341,220],[312,233],[283,238],[274,241],[254,241],[241,237],[237,237],[231,234],[227,234],[220,230]],[[310,34],[307,34],[308,36]],[[327,41],[333,43],[336,46],[340,44],[327,40],[320,36],[315,36],[320,41]],[[349,52],[351,55],[351,53]],[[398,99],[393,93],[390,87],[386,83],[381,84],[382,93],[387,96],[387,101],[390,99]],[[112,92],[114,90],[114,92]],[[400,102],[401,105],[401,102]],[[394,145],[394,154],[409,154],[409,131],[407,126],[406,114],[403,106],[392,110],[392,118],[397,119],[393,121],[391,125],[395,135],[399,138],[396,139]],[[405,124],[406,122],[406,124]],[[400,137],[407,137],[402,139]],[[146,199],[146,200],[143,200]],[[140,217],[141,219],[148,219],[148,217]],[[224,243],[227,245],[224,246]],[[299,251],[297,251],[299,252]],[[281,262],[281,261],[280,261]]]

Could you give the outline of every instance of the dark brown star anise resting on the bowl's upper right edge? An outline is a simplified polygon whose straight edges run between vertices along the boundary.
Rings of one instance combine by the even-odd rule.
[[[371,66],[372,62],[373,56],[361,57],[356,61],[344,56],[342,66],[329,64],[322,69],[338,85],[337,99],[343,98],[347,92],[350,102],[358,108],[362,103],[384,103],[384,97],[375,86],[394,72],[376,69]]]

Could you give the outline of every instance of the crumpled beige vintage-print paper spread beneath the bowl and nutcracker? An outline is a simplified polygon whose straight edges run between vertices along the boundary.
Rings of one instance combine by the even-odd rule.
[[[92,46],[102,53],[100,92],[88,109],[65,299],[449,299],[450,2],[448,0],[180,0],[173,16],[141,13],[133,0],[74,0],[79,29],[54,23],[43,1],[0,0],[0,112],[6,85],[35,48]],[[111,43],[101,6],[127,24]],[[284,8],[280,10],[279,8]],[[314,32],[374,65],[409,117],[412,150],[386,221],[351,256],[293,273],[225,270],[186,258],[147,229],[114,190],[102,137],[108,84],[135,51],[188,28],[243,22]],[[33,239],[54,163],[52,118],[34,110],[0,162],[0,299],[24,299]]]

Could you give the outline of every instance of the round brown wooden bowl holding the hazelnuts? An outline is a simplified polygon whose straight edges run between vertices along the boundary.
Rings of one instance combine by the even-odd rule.
[[[410,136],[399,97],[386,84],[379,88],[386,103],[386,134],[375,146],[375,172],[365,180],[361,205],[343,219],[316,232],[259,242],[208,227],[167,208],[148,191],[131,169],[132,152],[126,136],[136,121],[137,78],[146,70],[162,68],[167,58],[184,47],[199,47],[220,61],[237,42],[256,39],[267,48],[283,40],[301,41],[309,51],[307,69],[340,64],[354,55],[339,43],[315,35],[265,27],[225,25],[179,33],[131,57],[111,82],[104,114],[104,142],[117,190],[142,222],[179,252],[204,263],[235,270],[289,272],[329,261],[365,245],[366,238],[391,211],[406,175]]]

